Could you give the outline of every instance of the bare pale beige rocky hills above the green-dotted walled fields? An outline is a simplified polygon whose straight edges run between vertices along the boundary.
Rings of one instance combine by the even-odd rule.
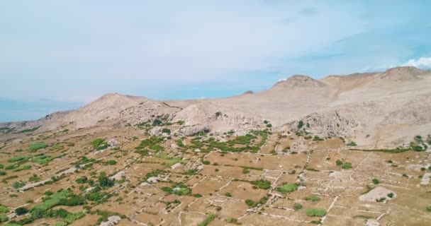
[[[79,129],[139,124],[157,116],[184,121],[177,132],[245,132],[265,128],[343,136],[367,148],[396,147],[414,134],[431,132],[431,73],[397,67],[381,73],[354,73],[315,80],[292,76],[269,90],[212,100],[155,101],[108,94],[89,105],[57,112],[38,121],[0,124],[2,131]]]

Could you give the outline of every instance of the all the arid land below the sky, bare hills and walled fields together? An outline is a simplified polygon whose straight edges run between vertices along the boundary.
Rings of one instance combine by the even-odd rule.
[[[0,223],[431,225],[431,71],[0,124]]]

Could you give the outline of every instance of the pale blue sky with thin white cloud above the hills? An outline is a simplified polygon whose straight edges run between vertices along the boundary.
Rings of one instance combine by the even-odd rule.
[[[0,122],[105,93],[228,97],[294,74],[431,69],[431,1],[0,1]]]

